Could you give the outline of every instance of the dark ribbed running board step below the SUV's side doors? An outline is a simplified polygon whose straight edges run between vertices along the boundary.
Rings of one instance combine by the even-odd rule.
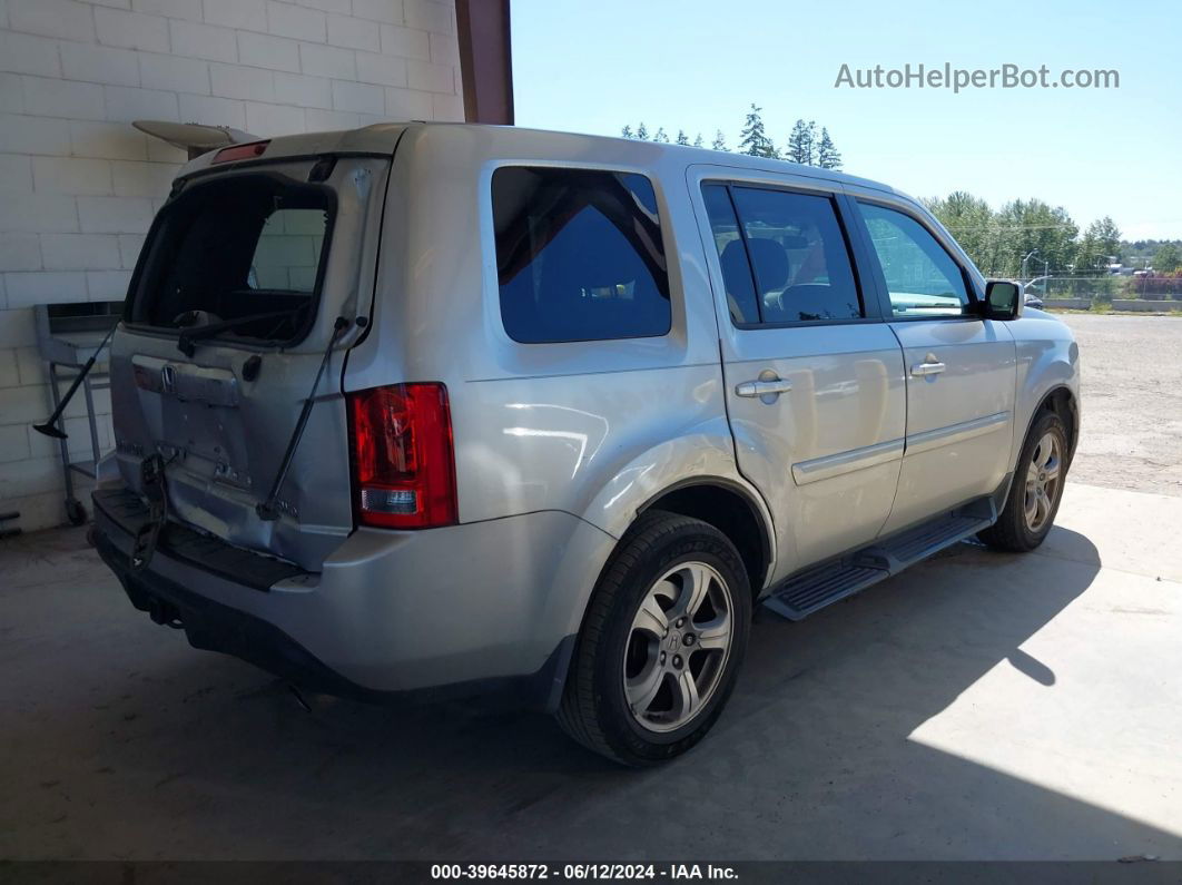
[[[788,620],[801,620],[826,605],[972,538],[994,521],[996,510],[992,501],[974,501],[869,547],[798,572],[773,591],[764,605]]]

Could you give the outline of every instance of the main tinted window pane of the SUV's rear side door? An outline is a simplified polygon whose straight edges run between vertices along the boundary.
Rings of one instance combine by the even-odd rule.
[[[764,323],[863,315],[850,250],[829,197],[732,188]]]

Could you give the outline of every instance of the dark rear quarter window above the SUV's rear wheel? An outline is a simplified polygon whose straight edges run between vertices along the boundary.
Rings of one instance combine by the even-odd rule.
[[[505,167],[493,173],[501,320],[524,343],[663,336],[669,275],[642,175]]]

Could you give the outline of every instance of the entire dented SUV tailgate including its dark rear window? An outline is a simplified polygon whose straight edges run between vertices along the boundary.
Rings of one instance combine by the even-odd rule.
[[[340,371],[356,325],[312,388],[336,318],[369,310],[388,168],[389,157],[299,158],[174,189],[111,353],[121,471],[138,492],[141,463],[160,454],[171,519],[309,570],[352,531]],[[238,325],[202,337],[227,321]],[[261,519],[310,395],[278,519]]]

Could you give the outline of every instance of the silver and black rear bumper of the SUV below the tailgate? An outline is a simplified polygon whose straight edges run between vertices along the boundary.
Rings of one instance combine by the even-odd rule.
[[[178,622],[197,649],[370,702],[465,697],[553,709],[613,544],[553,512],[428,532],[358,531],[320,573],[293,570],[260,587],[168,545],[131,571],[131,532],[105,505],[96,493],[95,545],[136,609]]]

